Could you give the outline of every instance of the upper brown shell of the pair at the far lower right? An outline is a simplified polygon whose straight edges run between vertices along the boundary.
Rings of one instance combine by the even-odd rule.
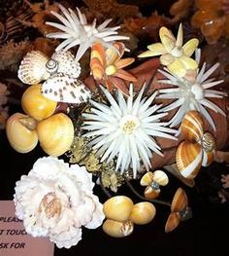
[[[174,199],[171,204],[172,212],[180,212],[187,207],[187,196],[183,189],[179,188],[174,196]]]

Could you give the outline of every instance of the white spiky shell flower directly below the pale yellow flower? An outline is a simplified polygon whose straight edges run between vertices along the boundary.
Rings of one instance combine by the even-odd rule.
[[[198,61],[200,59],[200,50],[199,53],[196,53],[196,55]],[[180,125],[182,118],[189,110],[197,110],[207,119],[207,121],[213,127],[213,130],[216,129],[213,123],[213,118],[207,111],[206,107],[225,116],[225,113],[209,99],[222,98],[223,96],[227,95],[227,93],[223,91],[210,90],[210,88],[213,88],[214,86],[223,82],[223,80],[214,81],[213,78],[210,78],[218,66],[219,63],[215,63],[209,70],[206,71],[206,63],[204,63],[202,68],[197,70],[194,79],[191,80],[185,77],[176,77],[168,70],[159,70],[159,72],[162,73],[167,79],[159,80],[158,82],[175,86],[172,88],[159,90],[160,94],[157,96],[158,98],[175,99],[171,104],[160,109],[160,111],[168,112],[179,108],[177,113],[170,120],[171,128]]]

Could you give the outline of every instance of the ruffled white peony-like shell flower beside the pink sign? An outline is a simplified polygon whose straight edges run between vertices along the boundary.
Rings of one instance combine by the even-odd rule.
[[[91,178],[84,166],[69,166],[53,157],[38,159],[16,182],[16,216],[26,232],[70,248],[81,240],[82,226],[99,227],[103,205],[93,195]]]

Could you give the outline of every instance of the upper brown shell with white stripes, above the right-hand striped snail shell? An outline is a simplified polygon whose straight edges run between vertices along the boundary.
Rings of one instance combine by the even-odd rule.
[[[203,136],[204,122],[200,113],[191,110],[183,117],[180,125],[180,135],[184,139],[199,142]]]

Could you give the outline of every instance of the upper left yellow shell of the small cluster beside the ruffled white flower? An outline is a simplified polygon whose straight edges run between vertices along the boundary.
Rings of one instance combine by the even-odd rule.
[[[134,203],[125,196],[115,196],[104,203],[104,214],[108,219],[126,221],[129,219]]]

